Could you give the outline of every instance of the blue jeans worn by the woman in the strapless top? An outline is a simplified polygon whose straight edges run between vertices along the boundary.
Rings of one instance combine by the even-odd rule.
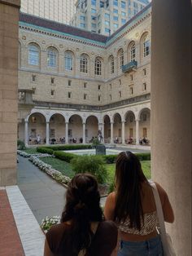
[[[155,236],[147,241],[129,242],[120,241],[118,256],[163,256],[160,236]]]

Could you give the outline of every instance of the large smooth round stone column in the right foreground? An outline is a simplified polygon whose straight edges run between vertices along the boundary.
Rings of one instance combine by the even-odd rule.
[[[164,19],[162,19],[164,17]],[[153,0],[152,179],[168,192],[179,256],[191,255],[191,1]]]

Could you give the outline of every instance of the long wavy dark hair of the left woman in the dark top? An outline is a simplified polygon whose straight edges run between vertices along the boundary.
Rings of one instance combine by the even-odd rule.
[[[99,205],[100,195],[97,180],[91,174],[76,174],[68,186],[66,205],[61,222],[71,221],[68,238],[63,240],[63,246],[72,248],[72,255],[77,255],[81,249],[89,249],[93,232],[90,222],[103,220],[103,211]]]

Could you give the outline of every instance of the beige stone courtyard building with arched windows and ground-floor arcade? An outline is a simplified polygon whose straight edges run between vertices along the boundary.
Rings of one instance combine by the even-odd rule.
[[[19,102],[33,104],[19,108],[26,144],[88,143],[98,130],[107,143],[151,139],[151,5],[111,37],[20,14],[19,38]]]

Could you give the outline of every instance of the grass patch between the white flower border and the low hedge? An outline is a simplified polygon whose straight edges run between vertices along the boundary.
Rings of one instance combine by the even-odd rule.
[[[74,176],[71,165],[66,161],[54,157],[40,157],[39,159],[52,166],[55,170],[59,170],[63,175],[66,175],[69,178]]]

